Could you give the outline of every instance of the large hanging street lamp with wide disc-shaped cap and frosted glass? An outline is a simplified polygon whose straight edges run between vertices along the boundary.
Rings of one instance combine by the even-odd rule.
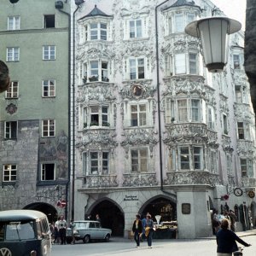
[[[185,27],[190,36],[201,39],[202,54],[209,72],[224,70],[227,63],[227,44],[232,33],[241,29],[241,23],[223,16],[195,20]]]

